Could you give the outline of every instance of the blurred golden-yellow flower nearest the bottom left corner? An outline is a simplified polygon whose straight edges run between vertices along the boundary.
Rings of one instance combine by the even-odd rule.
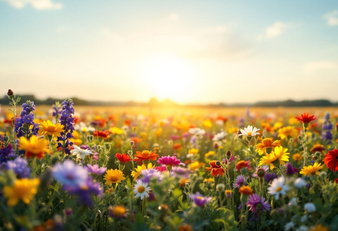
[[[22,200],[25,204],[29,204],[33,196],[38,192],[38,185],[40,184],[39,178],[28,179],[22,178],[16,180],[13,186],[5,186],[3,188],[3,194],[5,198],[8,198],[7,205],[15,206],[19,200]]]

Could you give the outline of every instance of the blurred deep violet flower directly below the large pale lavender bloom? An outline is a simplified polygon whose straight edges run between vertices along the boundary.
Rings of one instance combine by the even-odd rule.
[[[76,194],[79,196],[79,202],[84,205],[92,206],[93,201],[91,195],[93,196],[103,196],[103,188],[99,182],[93,182],[91,177],[88,177],[86,184],[78,187],[71,186],[67,188],[70,194]]]

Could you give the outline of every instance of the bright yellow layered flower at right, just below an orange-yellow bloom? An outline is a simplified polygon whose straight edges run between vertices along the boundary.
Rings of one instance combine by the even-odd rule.
[[[261,165],[270,165],[270,169],[274,169],[275,164],[279,161],[280,164],[285,164],[284,161],[289,161],[289,154],[287,148],[275,147],[274,151],[272,151],[270,154],[266,153],[265,156],[261,158],[261,161],[259,161],[259,166]]]

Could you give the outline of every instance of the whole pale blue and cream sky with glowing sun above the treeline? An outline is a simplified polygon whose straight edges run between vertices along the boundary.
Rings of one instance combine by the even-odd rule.
[[[338,101],[338,1],[0,0],[7,89],[40,99]]]

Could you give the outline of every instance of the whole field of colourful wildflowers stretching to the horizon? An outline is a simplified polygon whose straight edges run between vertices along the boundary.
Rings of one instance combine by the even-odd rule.
[[[0,230],[338,230],[337,108],[8,102]]]

